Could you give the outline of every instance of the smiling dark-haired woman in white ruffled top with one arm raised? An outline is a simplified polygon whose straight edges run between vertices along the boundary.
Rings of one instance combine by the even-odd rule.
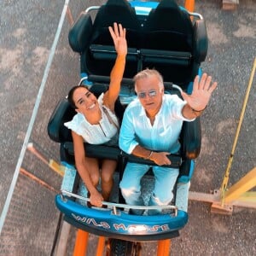
[[[90,204],[102,207],[102,201],[108,201],[113,187],[115,160],[102,160],[86,157],[84,142],[91,144],[118,143],[119,122],[114,113],[114,103],[119,96],[120,84],[125,71],[127,43],[125,28],[120,24],[108,27],[113,38],[117,57],[110,73],[109,89],[98,99],[86,87],[75,86],[68,94],[68,101],[77,114],[73,120],[65,123],[72,130],[75,164],[80,177],[90,195]],[[101,172],[100,172],[101,164]],[[102,181],[102,193],[96,186]]]

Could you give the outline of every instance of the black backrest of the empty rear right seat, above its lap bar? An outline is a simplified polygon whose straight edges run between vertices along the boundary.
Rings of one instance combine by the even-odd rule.
[[[144,26],[144,46],[150,49],[191,51],[193,26],[175,0],[162,0],[152,9]]]

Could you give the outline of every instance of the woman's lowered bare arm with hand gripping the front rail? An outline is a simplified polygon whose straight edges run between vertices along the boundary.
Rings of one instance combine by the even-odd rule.
[[[74,131],[72,131],[72,137],[76,168],[86,186],[86,189],[90,192],[90,203],[96,207],[102,207],[103,197],[91,182],[90,174],[86,168],[84,139]]]

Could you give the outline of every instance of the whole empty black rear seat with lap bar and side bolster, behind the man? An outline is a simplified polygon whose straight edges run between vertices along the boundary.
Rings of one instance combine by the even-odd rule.
[[[202,24],[198,27],[200,21]],[[204,21],[196,20],[194,25],[189,13],[180,9],[175,0],[162,0],[148,15],[142,55],[144,68],[157,69],[165,81],[186,90],[207,55]]]

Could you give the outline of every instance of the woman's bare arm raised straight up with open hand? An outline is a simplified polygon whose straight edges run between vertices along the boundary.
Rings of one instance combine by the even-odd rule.
[[[103,104],[113,111],[114,103],[119,96],[121,81],[125,72],[125,58],[127,55],[127,43],[125,39],[126,30],[121,24],[113,23],[113,28],[108,27],[113,38],[117,57],[110,73],[109,90],[103,98]]]

